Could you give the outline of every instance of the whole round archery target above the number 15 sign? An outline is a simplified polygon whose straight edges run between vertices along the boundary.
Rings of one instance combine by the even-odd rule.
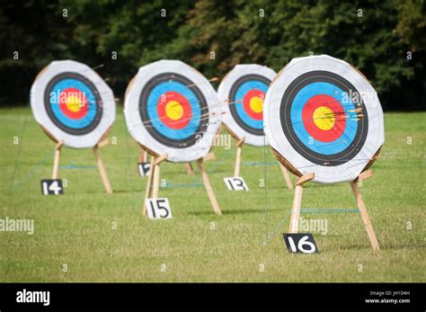
[[[140,67],[124,113],[129,132],[157,155],[190,162],[209,153],[221,115],[217,93],[194,68],[177,60]]]

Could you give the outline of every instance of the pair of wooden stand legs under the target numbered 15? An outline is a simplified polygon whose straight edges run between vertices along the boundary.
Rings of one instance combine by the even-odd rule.
[[[148,174],[148,179],[146,181],[146,191],[145,191],[145,199],[144,199],[144,209],[143,209],[143,215],[146,215],[146,199],[149,198],[157,198],[158,197],[158,190],[160,185],[160,164],[164,162],[164,160],[167,159],[167,154],[164,154],[162,156],[152,156],[151,158],[151,171]],[[213,153],[210,153],[208,156],[205,156],[202,159],[197,160],[195,163],[198,165],[202,177],[202,181],[204,184],[204,187],[206,188],[207,194],[209,195],[209,200],[211,203],[211,206],[215,213],[219,216],[222,215],[222,212],[220,210],[219,204],[217,203],[215,193],[213,192],[213,188],[211,187],[211,184],[209,182],[209,175],[204,170],[204,166],[202,165],[203,162],[209,161],[215,159],[215,155]],[[151,187],[152,185],[152,187]]]

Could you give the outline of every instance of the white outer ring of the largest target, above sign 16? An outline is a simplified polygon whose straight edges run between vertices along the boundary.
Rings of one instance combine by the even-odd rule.
[[[366,142],[359,153],[343,165],[327,167],[308,161],[291,146],[281,127],[280,103],[288,85],[297,76],[313,70],[330,71],[347,79],[361,94],[368,112]],[[376,91],[357,70],[338,58],[326,55],[293,58],[271,84],[265,97],[265,103],[264,130],[271,147],[284,156],[301,174],[314,173],[314,181],[317,183],[340,183],[354,180],[367,165],[368,159],[372,158],[385,142],[383,111]]]

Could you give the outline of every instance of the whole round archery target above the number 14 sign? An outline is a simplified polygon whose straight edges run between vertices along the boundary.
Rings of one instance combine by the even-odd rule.
[[[67,147],[94,147],[115,119],[114,95],[92,68],[54,61],[31,86],[35,119]]]

